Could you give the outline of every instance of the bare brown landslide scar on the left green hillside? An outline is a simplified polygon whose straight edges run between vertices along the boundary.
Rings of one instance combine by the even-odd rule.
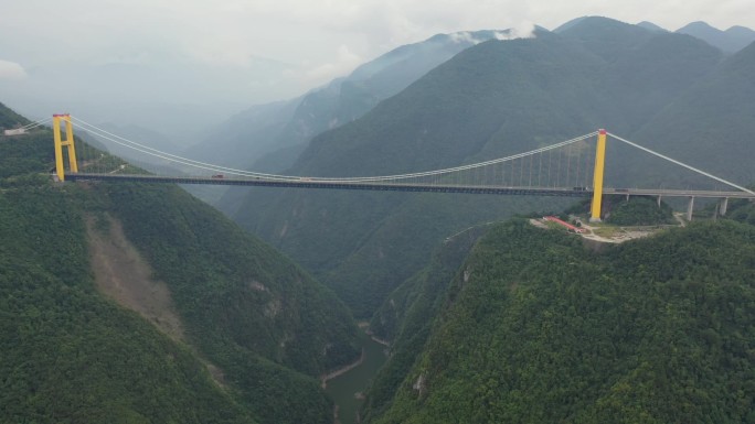
[[[87,217],[89,257],[97,289],[119,305],[136,311],[174,340],[185,341],[168,285],[151,278],[147,261],[124,235],[120,222],[109,216],[106,229]]]

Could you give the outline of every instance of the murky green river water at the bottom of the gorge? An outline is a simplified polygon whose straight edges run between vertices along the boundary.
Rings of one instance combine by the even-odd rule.
[[[360,336],[364,349],[364,361],[354,369],[328,380],[326,391],[338,405],[338,416],[341,424],[357,424],[357,412],[362,405],[358,394],[363,393],[370,381],[385,363],[386,347],[373,340],[366,334]]]

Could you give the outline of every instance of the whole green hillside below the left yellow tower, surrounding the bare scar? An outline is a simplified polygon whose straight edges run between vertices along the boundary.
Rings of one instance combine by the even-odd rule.
[[[329,290],[178,187],[53,184],[40,174],[52,150],[49,130],[0,137],[8,416],[332,421],[317,378],[359,350]],[[79,161],[110,160],[98,157]],[[169,287],[188,345],[96,291],[85,221],[107,236],[114,220]],[[222,387],[200,357],[220,368]]]

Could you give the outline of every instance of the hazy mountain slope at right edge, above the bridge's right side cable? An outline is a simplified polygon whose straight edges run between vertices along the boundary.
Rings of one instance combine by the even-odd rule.
[[[714,175],[755,183],[755,43],[726,58],[634,135]],[[632,164],[650,174],[646,164]],[[645,165],[645,167],[642,167]]]

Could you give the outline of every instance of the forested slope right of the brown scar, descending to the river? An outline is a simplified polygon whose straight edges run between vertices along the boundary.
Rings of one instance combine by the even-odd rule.
[[[330,291],[177,187],[97,192],[170,286],[191,341],[263,422],[332,420],[313,377],[354,361],[359,350],[355,324]]]

